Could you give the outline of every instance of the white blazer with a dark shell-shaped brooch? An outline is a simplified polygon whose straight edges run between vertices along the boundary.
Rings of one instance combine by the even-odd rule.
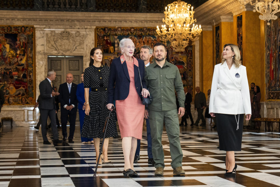
[[[209,113],[251,114],[251,101],[246,67],[235,65],[228,68],[224,62],[215,65]]]

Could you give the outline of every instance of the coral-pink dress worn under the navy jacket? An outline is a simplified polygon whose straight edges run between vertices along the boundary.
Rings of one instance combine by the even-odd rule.
[[[124,59],[123,56],[121,58]],[[135,88],[134,65],[138,67],[138,61],[134,57],[133,59],[133,62],[125,61],[130,79],[129,93],[126,99],[116,100],[116,111],[121,138],[132,136],[142,139],[145,105],[142,104]],[[139,75],[136,74],[135,76]]]

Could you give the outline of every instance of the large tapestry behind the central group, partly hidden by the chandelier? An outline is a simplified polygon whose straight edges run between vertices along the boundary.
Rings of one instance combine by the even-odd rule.
[[[112,60],[121,55],[119,42],[123,38],[132,39],[135,44],[134,56],[140,58],[140,49],[143,45],[153,47],[157,42],[162,42],[155,32],[156,28],[146,27],[96,27],[95,46],[103,50],[104,65],[110,66]],[[182,53],[173,53],[169,42],[167,46],[168,61],[176,65],[180,71],[183,86],[193,91],[193,46],[187,46]],[[153,57],[152,57],[153,58]],[[150,61],[152,61],[152,58]]]

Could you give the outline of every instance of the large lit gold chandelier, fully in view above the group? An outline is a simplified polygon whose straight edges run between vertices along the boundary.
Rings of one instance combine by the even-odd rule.
[[[170,41],[170,45],[174,51],[185,51],[185,47],[188,45],[189,40],[195,41],[199,39],[202,32],[201,25],[195,25],[196,19],[193,19],[193,7],[190,11],[190,4],[181,0],[174,1],[167,5],[164,11],[164,18],[162,22],[168,25],[162,25],[161,29],[157,26],[157,34],[162,40]],[[191,27],[192,25],[192,27]]]

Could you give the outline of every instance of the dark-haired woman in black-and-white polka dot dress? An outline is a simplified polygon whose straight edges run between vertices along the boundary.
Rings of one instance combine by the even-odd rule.
[[[100,48],[93,48],[90,51],[90,67],[86,68],[84,73],[86,115],[81,136],[84,138],[93,138],[96,150],[96,162],[99,155],[100,138],[104,136],[102,131],[104,129],[105,120],[110,112],[106,107],[110,67],[101,65],[102,56]],[[90,87],[91,92],[89,93]],[[108,160],[107,150],[109,137],[118,137],[115,119],[115,113],[111,112],[99,164],[102,164],[102,160],[104,163],[111,162]]]

